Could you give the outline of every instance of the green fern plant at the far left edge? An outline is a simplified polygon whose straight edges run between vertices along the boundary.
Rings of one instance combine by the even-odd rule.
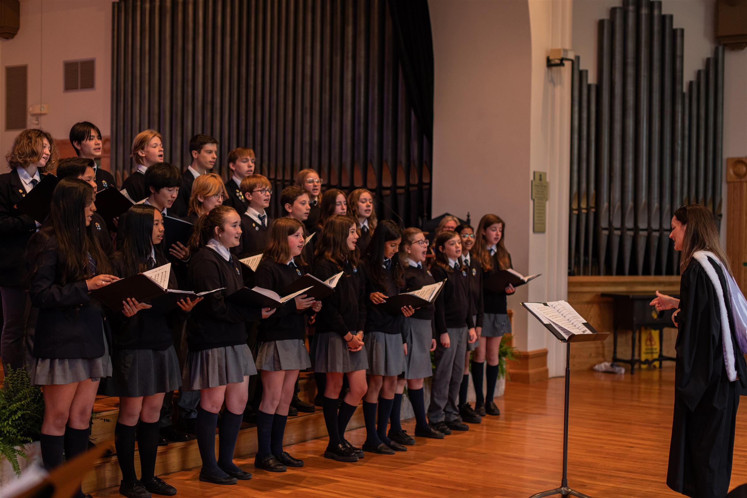
[[[22,448],[40,437],[44,418],[44,398],[39,387],[31,385],[25,368],[7,375],[0,389],[0,455],[10,462],[13,472],[21,475],[18,457],[28,457]]]

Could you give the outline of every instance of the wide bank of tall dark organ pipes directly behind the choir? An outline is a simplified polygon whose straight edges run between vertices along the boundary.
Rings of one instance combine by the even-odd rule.
[[[385,0],[120,0],[112,9],[118,178],[131,171],[139,131],[160,131],[180,169],[190,164],[190,137],[204,133],[219,141],[215,172],[224,178],[231,149],[254,149],[276,212],[280,190],[314,168],[325,188],[372,190],[379,217],[430,217],[427,5],[400,19],[400,31],[414,22],[429,37],[422,53],[409,47],[404,56]]]

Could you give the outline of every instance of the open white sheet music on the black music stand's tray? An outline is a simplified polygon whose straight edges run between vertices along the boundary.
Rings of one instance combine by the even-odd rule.
[[[568,302],[522,302],[521,305],[561,342],[600,340],[601,336],[609,335],[597,332]]]

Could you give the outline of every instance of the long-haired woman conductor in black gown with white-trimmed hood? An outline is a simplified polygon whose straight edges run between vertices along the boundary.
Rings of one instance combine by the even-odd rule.
[[[713,214],[703,206],[675,211],[669,237],[681,251],[680,299],[657,291],[651,301],[658,310],[677,308],[672,316],[678,327],[675,415],[666,484],[688,497],[723,498],[747,380],[732,313],[731,272]]]

